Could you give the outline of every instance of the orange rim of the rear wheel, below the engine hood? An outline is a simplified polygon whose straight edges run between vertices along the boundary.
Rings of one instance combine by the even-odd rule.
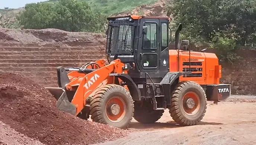
[[[182,109],[187,115],[195,115],[200,108],[199,96],[193,92],[189,91],[182,98]]]

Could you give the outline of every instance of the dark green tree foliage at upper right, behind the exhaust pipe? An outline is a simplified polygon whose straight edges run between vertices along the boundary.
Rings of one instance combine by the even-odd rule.
[[[255,41],[256,0],[172,0],[167,9],[186,36],[212,41],[223,33],[240,45]]]

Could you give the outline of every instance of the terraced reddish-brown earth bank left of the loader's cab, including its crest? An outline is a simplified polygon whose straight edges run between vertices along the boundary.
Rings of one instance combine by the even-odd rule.
[[[0,70],[56,87],[57,67],[81,67],[105,59],[105,44],[99,33],[0,28]]]

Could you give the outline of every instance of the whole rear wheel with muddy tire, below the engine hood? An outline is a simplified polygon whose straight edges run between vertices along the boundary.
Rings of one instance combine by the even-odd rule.
[[[172,93],[169,112],[180,125],[198,124],[207,109],[207,98],[204,89],[192,81],[183,81]]]

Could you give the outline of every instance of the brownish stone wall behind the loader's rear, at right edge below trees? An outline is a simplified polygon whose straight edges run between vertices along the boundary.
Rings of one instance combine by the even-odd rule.
[[[240,56],[233,64],[221,62],[222,83],[231,84],[232,94],[256,94],[256,51],[240,49],[237,54]]]

